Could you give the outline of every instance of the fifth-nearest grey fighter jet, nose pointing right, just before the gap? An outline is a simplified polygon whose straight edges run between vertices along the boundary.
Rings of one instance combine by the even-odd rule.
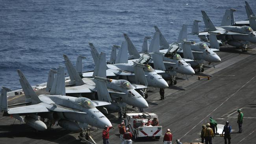
[[[219,44],[215,35],[210,35],[211,48],[204,42],[188,42],[187,41],[187,25],[182,26],[182,30],[178,36],[177,42],[181,45],[177,53],[182,54],[186,59],[193,59],[188,63],[193,68],[198,68],[198,72],[204,71],[204,61],[208,61],[209,65],[212,63],[218,63],[221,58],[214,52],[219,51]],[[160,50],[160,52],[163,50]],[[214,65],[213,65],[214,66]]]

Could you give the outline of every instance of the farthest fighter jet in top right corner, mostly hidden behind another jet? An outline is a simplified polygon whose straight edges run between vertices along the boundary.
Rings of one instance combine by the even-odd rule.
[[[245,1],[245,10],[249,20],[235,21],[234,12],[236,9],[226,9],[221,26],[250,26],[252,30],[256,30],[256,16],[247,1]]]

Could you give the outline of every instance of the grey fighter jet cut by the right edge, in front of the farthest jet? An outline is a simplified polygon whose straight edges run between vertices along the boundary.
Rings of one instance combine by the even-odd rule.
[[[247,51],[249,42],[256,43],[256,33],[249,26],[220,26],[215,27],[205,11],[202,11],[206,30],[199,35],[216,34],[217,39]]]

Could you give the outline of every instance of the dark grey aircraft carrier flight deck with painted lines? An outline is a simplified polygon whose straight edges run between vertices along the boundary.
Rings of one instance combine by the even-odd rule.
[[[252,47],[255,47],[252,46]],[[217,52],[221,63],[213,68],[205,68],[203,73],[189,76],[189,81],[178,79],[175,86],[165,89],[165,100],[160,101],[158,90],[149,88],[147,102],[149,107],[145,112],[158,114],[163,133],[171,129],[173,143],[176,139],[181,142],[200,142],[202,124],[209,122],[210,116],[218,124],[229,121],[235,133],[232,133],[232,144],[254,144],[256,141],[256,52],[241,50],[223,50]],[[205,66],[208,66],[206,64]],[[199,75],[210,75],[211,79],[197,80]],[[181,76],[180,76],[181,77]],[[44,93],[43,91],[39,93]],[[24,96],[9,97],[8,104],[24,102]],[[243,133],[236,133],[237,109],[244,113]],[[130,110],[134,112],[137,109]],[[115,129],[110,130],[110,143],[119,144],[120,120],[117,113],[108,114],[107,117]],[[0,144],[79,144],[78,133],[72,133],[59,126],[54,126],[44,132],[35,132],[25,123],[20,124],[14,118],[0,116]],[[91,136],[97,143],[102,143],[102,129],[94,129]],[[133,143],[159,144],[160,140],[141,138]],[[213,144],[224,143],[223,137],[216,136]]]

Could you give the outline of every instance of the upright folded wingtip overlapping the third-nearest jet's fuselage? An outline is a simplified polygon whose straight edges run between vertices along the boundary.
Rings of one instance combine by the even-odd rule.
[[[143,70],[146,66],[149,65],[134,62],[134,74],[136,83],[148,86],[148,81]]]

